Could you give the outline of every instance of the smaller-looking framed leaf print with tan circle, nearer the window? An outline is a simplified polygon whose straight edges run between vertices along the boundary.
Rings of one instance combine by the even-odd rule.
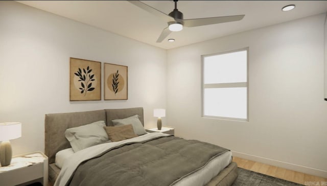
[[[127,100],[128,67],[104,63],[104,99]]]

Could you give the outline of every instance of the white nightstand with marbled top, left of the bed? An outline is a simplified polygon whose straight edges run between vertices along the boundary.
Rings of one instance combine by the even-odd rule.
[[[26,185],[33,182],[48,186],[48,157],[42,152],[13,156],[9,166],[0,167],[0,185]]]

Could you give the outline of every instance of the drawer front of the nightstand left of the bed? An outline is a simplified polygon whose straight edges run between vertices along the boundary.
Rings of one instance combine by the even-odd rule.
[[[43,164],[22,167],[13,171],[0,173],[0,185],[17,185],[43,177]]]

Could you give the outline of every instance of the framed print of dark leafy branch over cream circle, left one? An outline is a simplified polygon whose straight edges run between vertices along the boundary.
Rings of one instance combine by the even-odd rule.
[[[70,58],[70,101],[101,100],[101,62]]]

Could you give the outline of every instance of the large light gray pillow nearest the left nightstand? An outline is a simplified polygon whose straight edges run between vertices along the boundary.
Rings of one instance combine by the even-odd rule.
[[[109,140],[108,134],[103,127],[104,121],[98,121],[79,127],[69,128],[65,131],[65,136],[74,150],[80,151],[87,147],[98,145]]]

